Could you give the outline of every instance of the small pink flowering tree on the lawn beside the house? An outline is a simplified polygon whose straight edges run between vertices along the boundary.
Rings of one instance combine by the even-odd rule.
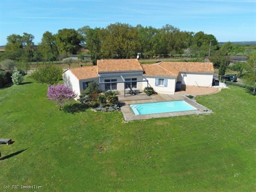
[[[57,84],[56,86],[51,85],[48,88],[47,97],[49,100],[55,101],[57,106],[60,107],[59,110],[61,110],[61,106],[77,97],[77,94],[72,88],[69,88],[64,84]]]

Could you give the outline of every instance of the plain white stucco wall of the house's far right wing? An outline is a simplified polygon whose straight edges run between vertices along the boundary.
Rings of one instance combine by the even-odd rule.
[[[186,75],[186,82],[182,82],[182,77]],[[213,73],[204,72],[180,72],[178,75],[178,80],[182,84],[191,86],[208,87],[211,86],[213,79]]]

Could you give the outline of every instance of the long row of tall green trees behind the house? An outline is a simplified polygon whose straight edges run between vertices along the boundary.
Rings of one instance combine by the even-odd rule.
[[[96,64],[97,59],[155,58],[157,56],[206,57],[209,46],[214,52],[218,41],[211,34],[181,31],[166,24],[162,28],[135,27],[126,23],[109,24],[105,28],[84,26],[75,29],[60,29],[57,34],[46,31],[41,42],[35,45],[32,34],[7,36],[3,59],[17,62],[61,61],[68,55],[83,56],[88,50]]]

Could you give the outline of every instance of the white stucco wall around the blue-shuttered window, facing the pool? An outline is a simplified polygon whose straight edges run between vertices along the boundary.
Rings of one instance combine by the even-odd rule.
[[[149,80],[149,86],[153,87],[153,89],[158,93],[163,94],[174,94],[176,88],[176,77],[166,77],[166,76],[145,76]],[[156,78],[159,79],[168,79],[167,87],[165,86],[156,86]],[[143,88],[147,87],[147,82],[143,82]]]

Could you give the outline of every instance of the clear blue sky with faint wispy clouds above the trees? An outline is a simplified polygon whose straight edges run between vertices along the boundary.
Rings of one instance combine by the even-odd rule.
[[[38,44],[46,31],[116,22],[256,41],[256,0],[0,0],[0,45],[11,34],[30,33]]]

